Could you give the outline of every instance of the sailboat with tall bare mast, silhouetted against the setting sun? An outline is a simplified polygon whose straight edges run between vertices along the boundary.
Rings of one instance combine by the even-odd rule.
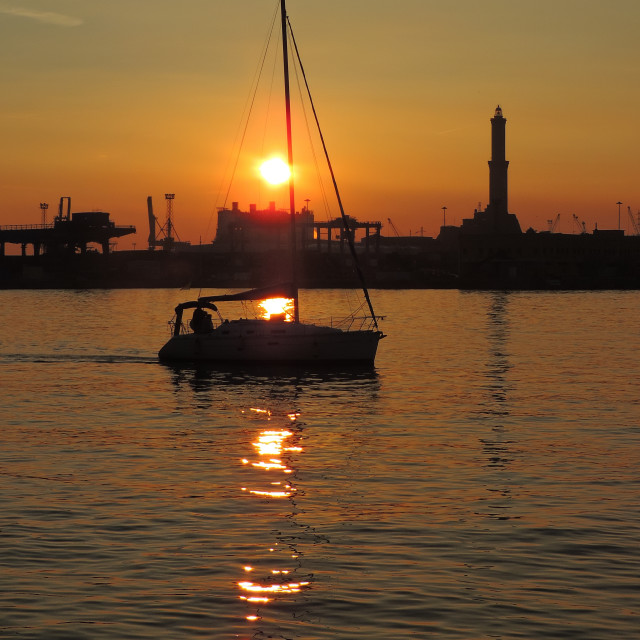
[[[282,23],[282,53],[284,75],[284,97],[286,116],[286,137],[289,165],[289,204],[291,219],[291,281],[275,284],[271,287],[251,289],[241,293],[201,296],[179,304],[175,316],[169,323],[172,335],[160,349],[159,358],[163,361],[201,361],[201,362],[246,362],[263,364],[313,364],[313,363],[359,363],[373,364],[378,343],[385,337],[378,326],[381,317],[376,316],[371,298],[358,266],[358,256],[353,243],[353,233],[349,229],[348,217],[344,212],[337,183],[329,160],[326,145],[313,106],[313,100],[307,91],[313,109],[320,139],[324,148],[335,193],[342,215],[344,230],[354,259],[356,271],[368,307],[368,314],[358,319],[351,316],[345,326],[323,326],[300,321],[298,304],[298,281],[296,275],[296,211],[293,184],[293,141],[291,127],[291,103],[289,93],[289,47],[287,40],[288,16],[286,0],[280,0]],[[293,34],[292,34],[293,38]],[[293,44],[297,53],[295,39]],[[299,60],[299,56],[298,56]],[[300,63],[306,84],[304,69]],[[277,314],[264,318],[225,319],[218,305],[223,302],[249,302],[271,298],[286,298],[292,301],[292,313]],[[184,312],[192,310],[189,328],[183,323]],[[217,315],[214,322],[211,313]]]

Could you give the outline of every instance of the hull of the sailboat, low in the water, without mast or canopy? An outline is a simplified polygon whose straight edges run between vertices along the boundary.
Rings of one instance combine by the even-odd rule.
[[[159,352],[162,360],[207,362],[360,362],[373,363],[380,331],[342,331],[332,327],[234,320],[210,333],[173,336]]]

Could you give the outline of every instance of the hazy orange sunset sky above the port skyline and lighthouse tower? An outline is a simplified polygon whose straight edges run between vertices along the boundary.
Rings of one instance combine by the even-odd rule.
[[[193,243],[212,240],[225,198],[286,207],[255,167],[273,137],[266,113],[280,108],[280,76],[268,98],[275,58],[229,188],[275,7],[0,0],[0,224],[39,223],[41,202],[51,219],[70,196],[72,211],[105,210],[136,225],[118,248],[143,248],[149,195],[163,218],[164,194],[175,193],[176,228]],[[489,120],[500,104],[509,209],[523,230],[544,230],[558,213],[565,233],[573,214],[588,230],[617,228],[618,201],[628,229],[627,206],[640,209],[638,0],[287,0],[287,8],[351,215],[381,220],[385,235],[388,218],[402,235],[437,235],[443,206],[449,224],[471,217],[487,203]],[[309,198],[318,219],[333,217],[305,145],[294,148],[298,205]]]

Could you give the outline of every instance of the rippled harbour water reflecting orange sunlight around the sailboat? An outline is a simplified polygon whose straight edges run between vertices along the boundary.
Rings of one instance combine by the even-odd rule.
[[[331,373],[159,364],[184,296],[0,292],[0,637],[638,637],[640,293],[373,292]]]

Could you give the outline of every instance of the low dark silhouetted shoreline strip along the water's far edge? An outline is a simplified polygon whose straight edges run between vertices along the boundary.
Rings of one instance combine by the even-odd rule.
[[[370,289],[635,290],[640,237],[521,234],[435,241],[428,250],[398,244],[363,251]],[[0,289],[253,288],[287,282],[286,251],[117,251],[2,256]],[[346,252],[307,250],[297,261],[302,289],[360,286]]]

